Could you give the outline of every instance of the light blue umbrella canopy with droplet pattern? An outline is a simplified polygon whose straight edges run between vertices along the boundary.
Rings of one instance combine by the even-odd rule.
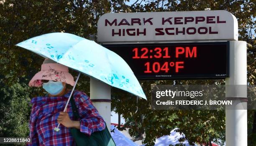
[[[123,58],[94,41],[70,33],[48,33],[17,45],[146,99],[140,83]]]

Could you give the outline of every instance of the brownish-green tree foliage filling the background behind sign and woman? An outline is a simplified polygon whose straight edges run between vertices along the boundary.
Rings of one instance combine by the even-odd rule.
[[[256,3],[253,0],[0,0],[0,137],[28,136],[30,98],[44,95],[41,88],[29,88],[28,81],[40,70],[43,58],[15,44],[51,32],[66,32],[88,38],[97,33],[97,20],[104,13],[189,10],[227,10],[238,19],[239,40],[248,42],[248,84],[256,84]],[[74,76],[75,71],[71,71]],[[90,79],[81,76],[78,90],[89,92]],[[190,142],[225,141],[225,111],[154,111],[151,84],[224,84],[223,80],[141,81],[148,98],[136,97],[113,88],[112,109],[126,120],[131,136],[146,134],[143,143],[169,135],[178,127]],[[255,146],[254,113],[248,111],[248,145]],[[181,139],[183,141],[184,139]]]

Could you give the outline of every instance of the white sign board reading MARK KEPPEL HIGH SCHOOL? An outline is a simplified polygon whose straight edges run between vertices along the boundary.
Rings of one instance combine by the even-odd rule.
[[[236,17],[225,10],[107,13],[98,42],[238,40]]]

